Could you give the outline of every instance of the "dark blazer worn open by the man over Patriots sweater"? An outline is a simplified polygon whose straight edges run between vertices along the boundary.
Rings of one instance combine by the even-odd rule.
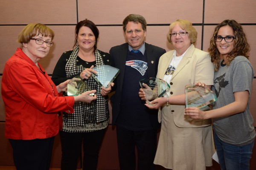
[[[122,45],[118,45],[112,47],[109,51],[111,57],[113,58],[113,66],[120,69],[120,73],[115,80],[115,85],[113,87],[113,91],[115,93],[111,97],[112,102],[112,125],[115,125],[117,116],[120,111],[120,102],[122,95],[122,85],[123,79],[125,75],[125,62],[128,51],[128,43],[124,43]],[[157,76],[157,67],[159,58],[166,53],[166,50],[145,42],[145,52],[147,55],[148,61],[148,77],[156,77]],[[138,89],[139,93],[139,89]],[[139,95],[139,94],[138,94]],[[148,113],[150,114],[151,125],[154,129],[159,127],[159,123],[157,120],[157,110],[148,109]]]

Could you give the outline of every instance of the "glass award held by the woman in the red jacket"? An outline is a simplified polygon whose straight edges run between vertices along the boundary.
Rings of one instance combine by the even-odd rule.
[[[67,95],[78,96],[86,91],[90,91],[90,87],[84,82],[80,76],[76,76],[67,83]],[[94,95],[94,94],[90,94]]]

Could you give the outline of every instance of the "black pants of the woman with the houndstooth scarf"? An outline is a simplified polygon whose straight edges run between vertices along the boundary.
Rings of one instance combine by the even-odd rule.
[[[61,170],[76,170],[81,146],[83,142],[84,159],[83,170],[96,170],[99,156],[99,148],[106,128],[93,132],[70,133],[60,131],[61,137]]]

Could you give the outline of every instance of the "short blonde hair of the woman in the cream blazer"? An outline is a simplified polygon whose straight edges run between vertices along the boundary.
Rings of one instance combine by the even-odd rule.
[[[176,20],[175,22],[171,23],[169,26],[169,31],[167,34],[167,39],[169,42],[172,42],[171,40],[171,33],[172,29],[176,26],[179,25],[180,28],[184,29],[186,32],[189,34],[189,39],[191,44],[195,45],[196,39],[197,39],[197,31],[195,28],[192,26],[192,23],[189,20]]]

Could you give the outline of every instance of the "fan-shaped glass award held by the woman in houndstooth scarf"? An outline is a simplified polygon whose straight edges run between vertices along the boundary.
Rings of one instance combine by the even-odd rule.
[[[109,83],[113,82],[119,74],[120,70],[110,65],[99,65],[93,67],[93,70],[97,71],[98,74],[92,74],[92,77],[102,87],[108,88]]]

